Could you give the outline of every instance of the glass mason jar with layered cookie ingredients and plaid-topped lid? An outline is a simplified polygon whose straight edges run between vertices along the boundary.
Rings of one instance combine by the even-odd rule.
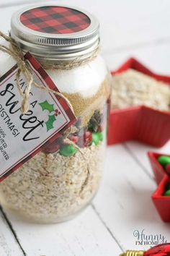
[[[80,9],[40,6],[16,12],[10,34],[40,61],[77,121],[1,182],[0,201],[29,221],[65,221],[91,202],[102,176],[109,73],[99,55],[99,23]],[[14,64],[3,53],[1,63],[1,74]]]

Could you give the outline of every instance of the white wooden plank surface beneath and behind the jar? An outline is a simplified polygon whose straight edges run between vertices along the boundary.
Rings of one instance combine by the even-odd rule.
[[[15,10],[37,2],[1,0],[0,29],[9,30]],[[169,0],[58,3],[84,7],[97,15],[109,69],[134,56],[155,72],[170,74]],[[55,225],[24,223],[1,208],[0,256],[118,256],[125,249],[148,249],[135,244],[133,232],[143,229],[145,234],[161,234],[169,241],[170,226],[161,221],[151,201],[156,183],[148,150],[169,153],[170,143],[161,149],[138,142],[108,147],[99,192],[73,221]]]

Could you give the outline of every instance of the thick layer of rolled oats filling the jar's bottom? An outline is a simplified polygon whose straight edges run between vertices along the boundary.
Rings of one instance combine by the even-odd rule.
[[[97,191],[104,143],[65,157],[39,153],[0,184],[0,201],[30,221],[58,222],[84,208]]]

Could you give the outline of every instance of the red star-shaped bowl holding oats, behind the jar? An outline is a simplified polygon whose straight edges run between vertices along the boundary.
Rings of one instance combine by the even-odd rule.
[[[112,75],[135,69],[148,74],[158,81],[170,84],[170,77],[151,72],[149,69],[131,58]],[[162,147],[170,139],[170,112],[158,111],[147,106],[111,110],[109,116],[108,145],[138,140],[155,147]]]

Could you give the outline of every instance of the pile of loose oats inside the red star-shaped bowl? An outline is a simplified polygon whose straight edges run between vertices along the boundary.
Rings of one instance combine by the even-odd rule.
[[[133,69],[112,77],[112,108],[145,105],[170,111],[170,86]]]

